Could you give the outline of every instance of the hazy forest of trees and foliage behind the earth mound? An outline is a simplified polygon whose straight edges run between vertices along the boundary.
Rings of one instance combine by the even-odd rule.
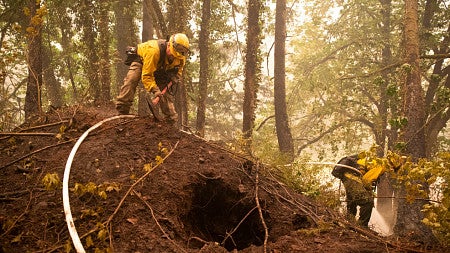
[[[110,103],[127,71],[126,46],[183,32],[192,53],[177,92],[180,128],[279,166],[311,196],[336,183],[326,163],[342,156],[398,162],[397,182],[421,182],[396,191],[395,232],[413,221],[449,240],[449,5],[2,0],[0,130],[53,108]],[[379,189],[392,197],[384,181]],[[438,204],[410,208],[408,194],[427,200],[436,181]]]

